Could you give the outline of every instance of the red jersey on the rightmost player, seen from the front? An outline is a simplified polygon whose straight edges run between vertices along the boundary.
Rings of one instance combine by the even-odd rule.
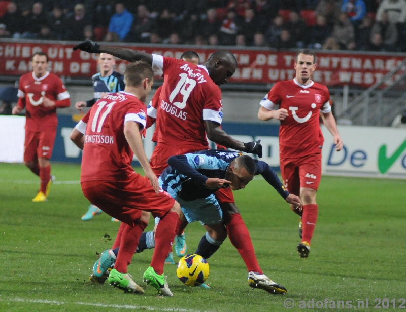
[[[276,83],[262,99],[260,105],[268,110],[279,105],[288,111],[279,128],[282,157],[321,153],[324,138],[319,124],[320,110],[324,113],[331,111],[329,100],[326,86],[313,81],[303,86],[296,79]]]

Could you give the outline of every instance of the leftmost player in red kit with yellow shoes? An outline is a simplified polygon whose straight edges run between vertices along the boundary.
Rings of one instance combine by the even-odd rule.
[[[26,108],[24,164],[41,180],[40,191],[32,201],[44,202],[54,179],[49,159],[58,124],[56,108],[69,107],[71,101],[60,78],[47,70],[47,54],[33,54],[31,66],[33,71],[20,78],[18,102],[12,114],[19,114]]]

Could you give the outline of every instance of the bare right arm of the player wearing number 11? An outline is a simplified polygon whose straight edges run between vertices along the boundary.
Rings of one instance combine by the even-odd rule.
[[[155,193],[159,193],[159,182],[156,175],[152,172],[152,169],[149,165],[147,155],[144,151],[144,144],[140,133],[140,126],[137,122],[128,121],[124,124],[124,136],[130,145],[134,154],[136,154],[137,159],[143,167],[145,176],[150,180],[152,188],[155,190]]]

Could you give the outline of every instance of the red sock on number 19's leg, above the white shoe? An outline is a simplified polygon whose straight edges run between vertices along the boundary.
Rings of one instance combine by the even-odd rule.
[[[238,250],[241,258],[249,272],[254,271],[262,274],[257,257],[255,256],[254,246],[252,246],[250,233],[239,213],[229,215],[229,221],[226,224],[228,238],[231,244]]]

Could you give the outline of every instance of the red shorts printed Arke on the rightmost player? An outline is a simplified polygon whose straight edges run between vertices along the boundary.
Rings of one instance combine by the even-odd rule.
[[[321,179],[321,153],[300,158],[280,158],[281,174],[286,189],[300,194],[300,187],[317,190]]]

